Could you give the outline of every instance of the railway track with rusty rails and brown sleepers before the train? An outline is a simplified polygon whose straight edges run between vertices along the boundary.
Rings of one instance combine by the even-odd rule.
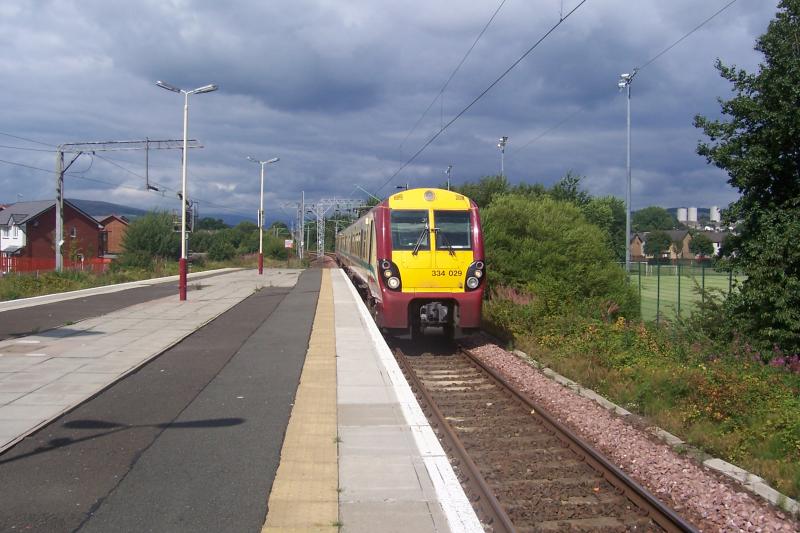
[[[394,352],[488,531],[696,531],[467,350]]]

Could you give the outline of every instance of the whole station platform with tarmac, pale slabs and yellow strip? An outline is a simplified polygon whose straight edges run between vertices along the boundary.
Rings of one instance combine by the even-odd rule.
[[[64,324],[0,341],[0,529],[482,531],[343,272],[265,274],[0,304]]]

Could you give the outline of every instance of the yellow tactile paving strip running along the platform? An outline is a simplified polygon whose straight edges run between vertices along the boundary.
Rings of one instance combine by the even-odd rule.
[[[262,533],[339,529],[336,338],[330,272],[322,271],[308,353]]]

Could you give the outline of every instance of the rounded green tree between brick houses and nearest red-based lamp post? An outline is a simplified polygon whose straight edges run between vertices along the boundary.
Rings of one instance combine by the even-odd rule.
[[[120,263],[149,268],[155,258],[177,260],[181,239],[172,225],[172,215],[163,211],[153,211],[135,219],[122,238]]]

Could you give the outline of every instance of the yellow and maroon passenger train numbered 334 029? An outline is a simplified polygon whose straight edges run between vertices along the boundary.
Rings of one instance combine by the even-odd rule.
[[[393,194],[336,235],[336,262],[385,334],[453,338],[480,327],[486,262],[478,206],[454,191]]]

